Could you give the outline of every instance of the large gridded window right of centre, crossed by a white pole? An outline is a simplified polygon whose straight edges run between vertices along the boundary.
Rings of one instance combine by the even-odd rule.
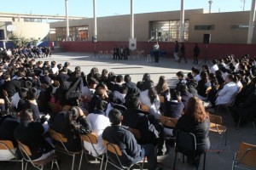
[[[184,40],[189,40],[189,20],[185,20]],[[173,42],[179,39],[180,21],[151,21],[149,22],[149,41]],[[157,33],[156,33],[157,32]],[[156,36],[158,35],[158,36]]]

